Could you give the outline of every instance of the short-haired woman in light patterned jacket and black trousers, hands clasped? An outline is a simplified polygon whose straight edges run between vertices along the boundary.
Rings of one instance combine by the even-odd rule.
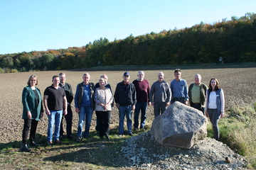
[[[105,79],[100,78],[99,84],[100,87],[95,89],[95,112],[99,123],[98,129],[101,139],[104,136],[109,139],[113,95],[111,90],[105,86]]]

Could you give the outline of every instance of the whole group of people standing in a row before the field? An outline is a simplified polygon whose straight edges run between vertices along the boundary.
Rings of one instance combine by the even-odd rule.
[[[41,91],[36,87],[38,77],[31,75],[28,79],[28,86],[23,89],[23,133],[21,150],[31,152],[28,148],[27,138],[30,130],[30,146],[38,146],[35,142],[36,127],[38,120],[43,117],[43,106],[48,115],[48,145],[60,144],[60,137],[63,137],[63,117],[66,120],[66,133],[69,139],[72,136],[73,112],[70,107],[75,100],[75,111],[78,113],[77,142],[89,136],[92,113],[97,115],[96,130],[100,138],[109,139],[110,118],[114,102],[119,110],[119,131],[118,136],[124,135],[124,117],[127,119],[127,134],[132,136],[132,113],[134,111],[134,130],[145,129],[146,110],[149,105],[154,106],[154,116],[163,114],[166,108],[178,101],[202,111],[210,118],[213,124],[213,132],[216,140],[219,140],[218,120],[224,116],[224,93],[219,88],[218,80],[210,79],[209,86],[201,83],[201,75],[195,75],[195,83],[189,87],[186,80],[181,79],[181,70],[174,71],[175,79],[169,85],[164,81],[164,73],[159,72],[158,79],[152,86],[144,79],[144,72],[139,71],[137,79],[130,82],[129,72],[124,72],[123,80],[116,86],[114,94],[107,75],[102,75],[97,84],[90,82],[90,74],[82,75],[83,81],[77,85],[75,96],[72,86],[65,82],[65,73],[54,76],[53,84],[48,86],[41,96]],[[141,121],[139,123],[139,113]],[[85,131],[82,135],[82,128],[85,124]],[[54,128],[55,126],[55,128]],[[53,132],[54,128],[54,132]],[[53,140],[54,139],[54,140]]]

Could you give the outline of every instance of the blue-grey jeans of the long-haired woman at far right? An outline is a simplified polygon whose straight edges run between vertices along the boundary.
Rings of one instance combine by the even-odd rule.
[[[210,122],[213,124],[213,134],[215,140],[220,140],[220,131],[218,128],[218,121],[220,120],[220,112],[217,109],[208,108],[207,113],[210,118]]]

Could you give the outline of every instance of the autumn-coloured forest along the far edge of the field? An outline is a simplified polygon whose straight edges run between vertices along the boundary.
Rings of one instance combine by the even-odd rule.
[[[162,30],[110,42],[100,38],[82,47],[0,55],[0,73],[80,69],[112,65],[256,62],[256,13],[213,24]]]

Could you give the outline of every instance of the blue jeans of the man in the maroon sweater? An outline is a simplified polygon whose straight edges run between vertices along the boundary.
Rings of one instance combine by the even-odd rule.
[[[137,102],[136,103],[135,111],[134,111],[134,128],[139,127],[139,111],[142,111],[140,128],[144,128],[145,123],[146,123],[146,108],[147,108],[146,102]]]

